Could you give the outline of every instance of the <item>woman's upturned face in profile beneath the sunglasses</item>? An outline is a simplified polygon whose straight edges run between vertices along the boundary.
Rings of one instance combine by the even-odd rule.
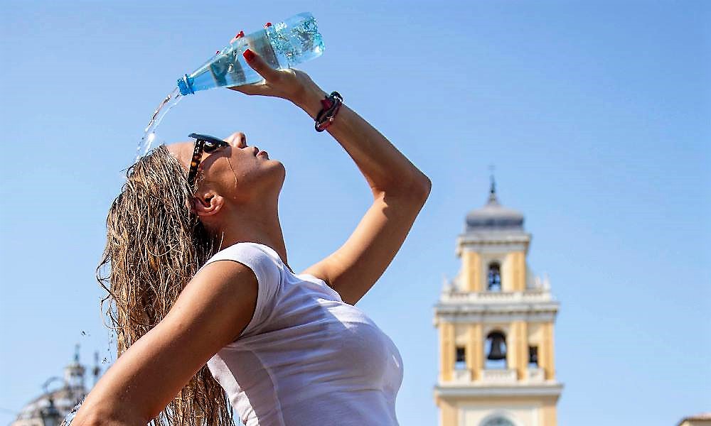
[[[278,160],[270,160],[266,152],[259,153],[260,148],[248,146],[247,137],[242,132],[232,133],[225,141],[229,146],[203,153],[198,167],[197,176],[201,182],[198,192],[213,191],[235,202],[249,202],[255,196],[274,192],[278,195],[284,183],[284,165]],[[167,146],[180,160],[186,174],[194,146],[194,141]]]

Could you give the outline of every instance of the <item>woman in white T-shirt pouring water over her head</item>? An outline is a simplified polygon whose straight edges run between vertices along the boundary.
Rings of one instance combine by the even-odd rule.
[[[97,275],[121,356],[75,426],[228,425],[230,405],[248,426],[397,425],[400,354],[353,305],[400,249],[430,181],[304,72],[245,59],[264,80],[232,89],[330,123],[373,205],[340,249],[295,274],[277,212],[284,166],[243,133],[141,158],[109,210],[97,270],[110,265]]]

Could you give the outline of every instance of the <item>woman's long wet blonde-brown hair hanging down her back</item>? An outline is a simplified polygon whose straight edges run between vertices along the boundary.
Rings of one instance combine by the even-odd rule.
[[[97,280],[117,356],[168,314],[181,291],[220,247],[198,220],[183,165],[161,145],[127,169],[109,208]],[[107,307],[105,308],[105,302]],[[152,425],[234,425],[225,391],[203,366]]]

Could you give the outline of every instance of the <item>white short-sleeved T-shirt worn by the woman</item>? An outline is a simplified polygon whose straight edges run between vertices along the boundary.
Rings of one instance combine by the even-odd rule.
[[[402,383],[397,347],[361,310],[276,251],[237,243],[214,261],[257,275],[252,320],[208,361],[246,426],[393,426]]]

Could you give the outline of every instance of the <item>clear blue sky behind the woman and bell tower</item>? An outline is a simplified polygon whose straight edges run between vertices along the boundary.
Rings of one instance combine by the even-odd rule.
[[[0,425],[61,373],[108,356],[94,270],[121,170],[175,80],[244,29],[301,11],[326,53],[301,69],[433,182],[360,307],[405,362],[402,425],[435,425],[432,305],[486,200],[525,213],[528,261],[561,302],[560,425],[674,425],[711,408],[711,5],[705,1],[0,1]],[[706,28],[704,28],[706,27]],[[178,104],[159,140],[244,131],[282,160],[294,268],[370,205],[326,133],[281,99]],[[85,332],[86,335],[82,335]]]

